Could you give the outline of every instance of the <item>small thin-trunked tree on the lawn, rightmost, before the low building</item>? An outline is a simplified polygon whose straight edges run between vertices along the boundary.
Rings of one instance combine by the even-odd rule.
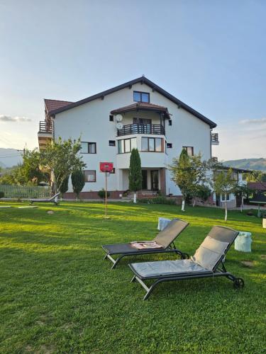
[[[237,181],[233,176],[233,170],[219,170],[214,171],[214,182],[213,182],[214,191],[216,194],[225,195],[225,221],[227,221],[227,195],[230,193],[235,193],[237,188]]]

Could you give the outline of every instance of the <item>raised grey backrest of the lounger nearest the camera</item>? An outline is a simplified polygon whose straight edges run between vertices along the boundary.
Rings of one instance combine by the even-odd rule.
[[[192,256],[192,261],[203,268],[214,270],[215,265],[224,255],[227,248],[227,242],[221,242],[210,236],[206,236],[206,239],[204,239],[199,249]]]

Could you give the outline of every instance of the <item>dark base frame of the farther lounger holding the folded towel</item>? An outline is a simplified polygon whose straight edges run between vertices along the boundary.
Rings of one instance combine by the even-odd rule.
[[[102,246],[102,248],[104,249],[104,246]],[[104,251],[106,251],[106,249],[104,249]],[[188,259],[189,255],[187,253],[184,253],[182,251],[180,251],[179,249],[176,248],[174,242],[172,242],[172,244],[170,244],[170,246],[168,246],[166,249],[150,249],[150,250],[138,250],[138,252],[136,251],[132,251],[132,252],[127,252],[127,253],[106,253],[106,255],[104,256],[104,259],[108,258],[113,265],[111,266],[111,269],[116,268],[116,265],[121,261],[121,259],[123,257],[126,256],[142,256],[143,254],[153,254],[153,253],[176,253],[179,256],[181,256],[182,259]],[[119,255],[118,258],[114,259],[112,256],[114,255]]]

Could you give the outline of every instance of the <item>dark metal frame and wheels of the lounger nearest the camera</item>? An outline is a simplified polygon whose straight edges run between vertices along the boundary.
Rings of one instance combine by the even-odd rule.
[[[235,238],[233,239],[233,241],[235,241],[236,237],[238,236],[238,234],[236,234]],[[228,249],[226,249],[226,252],[228,252],[228,250],[231,247],[231,244],[233,244],[233,241],[229,244]],[[213,271],[206,271],[206,272],[194,272],[194,273],[179,273],[177,275],[155,275],[155,276],[148,276],[148,277],[143,277],[140,274],[138,274],[138,272],[135,270],[135,268],[133,268],[133,266],[131,264],[129,264],[129,267],[131,268],[131,270],[134,273],[133,278],[131,279],[131,282],[134,282],[135,280],[137,280],[140,285],[146,290],[146,294],[143,297],[143,300],[146,300],[150,297],[151,293],[153,292],[153,290],[155,289],[155,287],[157,287],[157,285],[159,285],[161,282],[171,282],[171,281],[177,281],[177,280],[189,280],[189,279],[199,279],[199,278],[216,278],[216,277],[226,277],[229,280],[233,281],[233,286],[237,289],[239,289],[240,287],[244,287],[245,283],[244,280],[242,278],[237,278],[235,275],[233,275],[232,273],[229,273],[226,270],[226,267],[224,265],[226,260],[226,254],[225,256],[221,256],[221,258],[218,260],[218,262],[216,263],[216,266],[214,267]],[[148,285],[145,284],[146,280],[155,280],[155,282],[153,282],[152,285],[150,285],[150,287],[148,287]]]

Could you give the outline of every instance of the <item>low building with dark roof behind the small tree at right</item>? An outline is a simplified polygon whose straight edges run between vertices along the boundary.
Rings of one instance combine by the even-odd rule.
[[[228,170],[231,169],[233,170],[233,177],[235,179],[235,181],[238,182],[239,185],[246,185],[247,181],[243,180],[243,173],[251,173],[252,171],[250,170],[245,170],[245,169],[236,169],[233,167],[226,167],[223,166],[222,170]],[[216,171],[216,173],[218,173],[218,171]],[[227,207],[228,208],[233,208],[233,207],[240,207],[241,206],[241,197],[240,196],[235,196],[234,193],[228,193],[228,195],[216,195],[216,193],[214,192],[214,204],[217,207],[225,207],[226,205],[226,201],[227,201]],[[226,200],[227,199],[227,200]]]

